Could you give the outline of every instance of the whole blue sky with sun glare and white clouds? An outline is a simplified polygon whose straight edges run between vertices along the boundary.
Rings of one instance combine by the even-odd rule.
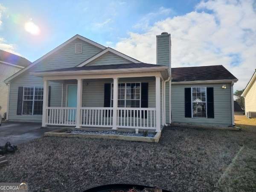
[[[256,0],[0,0],[0,49],[30,61],[79,34],[155,64],[161,32],[172,67],[221,64],[234,90],[256,69]]]

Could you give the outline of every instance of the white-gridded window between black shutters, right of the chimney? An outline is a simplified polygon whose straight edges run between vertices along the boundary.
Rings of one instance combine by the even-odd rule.
[[[192,87],[192,117],[207,117],[206,87]]]

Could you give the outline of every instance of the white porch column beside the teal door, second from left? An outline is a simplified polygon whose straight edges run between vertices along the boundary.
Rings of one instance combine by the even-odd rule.
[[[83,79],[77,79],[76,128],[81,128],[82,95],[83,95]]]

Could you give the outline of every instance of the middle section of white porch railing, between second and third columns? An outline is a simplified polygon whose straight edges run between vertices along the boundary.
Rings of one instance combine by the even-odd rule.
[[[112,127],[113,108],[81,108],[81,126]]]

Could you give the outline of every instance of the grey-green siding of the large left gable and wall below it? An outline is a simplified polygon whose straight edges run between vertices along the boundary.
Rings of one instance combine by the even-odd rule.
[[[75,44],[83,43],[82,53],[75,53]],[[97,54],[102,49],[95,47],[80,39],[76,39],[70,44],[67,44],[57,52],[53,53],[49,57],[45,58],[40,63],[31,67],[26,72],[22,73],[17,78],[13,79],[10,87],[10,106],[9,106],[9,120],[10,121],[29,121],[29,122],[41,122],[41,115],[25,116],[16,115],[17,111],[17,90],[19,86],[43,86],[43,79],[40,77],[32,76],[29,73],[43,70],[53,70],[66,67],[75,67],[91,56]],[[51,100],[50,106],[61,106],[61,81],[49,81],[51,86]]]

